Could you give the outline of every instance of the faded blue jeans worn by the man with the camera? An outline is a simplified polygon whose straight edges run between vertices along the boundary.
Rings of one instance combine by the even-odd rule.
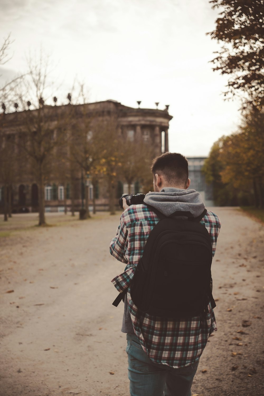
[[[174,369],[153,363],[135,334],[127,334],[128,378],[131,396],[191,396],[199,361]]]

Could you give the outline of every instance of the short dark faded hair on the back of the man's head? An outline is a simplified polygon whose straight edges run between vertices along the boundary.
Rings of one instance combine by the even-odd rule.
[[[167,183],[185,184],[188,180],[188,161],[178,152],[165,152],[154,158],[151,171],[153,175],[162,173]]]

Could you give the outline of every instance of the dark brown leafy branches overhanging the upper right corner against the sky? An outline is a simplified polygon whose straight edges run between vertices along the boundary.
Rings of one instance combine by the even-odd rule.
[[[243,107],[264,106],[264,0],[211,0],[220,10],[211,38],[222,42],[213,70],[229,77],[226,98],[240,95]]]

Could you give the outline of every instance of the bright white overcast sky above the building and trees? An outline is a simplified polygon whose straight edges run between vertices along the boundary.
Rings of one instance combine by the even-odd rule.
[[[169,150],[207,156],[240,120],[239,102],[221,95],[226,76],[208,63],[220,47],[205,35],[217,14],[208,0],[0,0],[0,43],[9,32],[15,40],[0,85],[42,47],[61,82],[58,102],[77,77],[89,102],[170,105]]]

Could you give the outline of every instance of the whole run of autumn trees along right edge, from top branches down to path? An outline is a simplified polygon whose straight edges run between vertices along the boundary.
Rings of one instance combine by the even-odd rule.
[[[264,1],[211,0],[220,10],[211,38],[213,70],[228,76],[224,99],[241,99],[243,123],[214,143],[203,171],[217,205],[264,207]]]

